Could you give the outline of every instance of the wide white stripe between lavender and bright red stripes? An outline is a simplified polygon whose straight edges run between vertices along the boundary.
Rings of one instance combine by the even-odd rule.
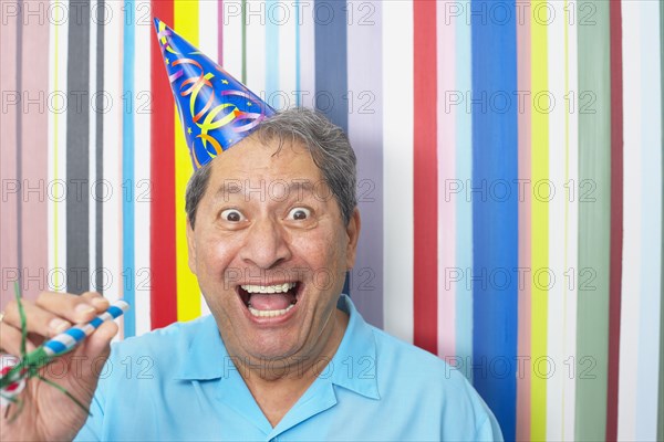
[[[413,90],[413,7],[405,1],[386,1],[382,12],[383,176],[401,178],[384,181],[383,250],[390,250],[383,255],[384,327],[412,343],[413,218],[394,213],[413,209],[413,119],[403,118],[413,115],[413,98],[400,93]]]

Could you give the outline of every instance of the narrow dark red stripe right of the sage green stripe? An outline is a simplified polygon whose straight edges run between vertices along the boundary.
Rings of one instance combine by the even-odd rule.
[[[610,2],[611,15],[611,275],[609,288],[609,377],[606,440],[618,439],[620,304],[623,233],[623,101],[621,2]]]

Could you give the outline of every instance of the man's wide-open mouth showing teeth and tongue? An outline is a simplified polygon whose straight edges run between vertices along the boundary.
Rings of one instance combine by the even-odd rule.
[[[255,317],[278,317],[286,315],[298,303],[300,282],[272,285],[242,284],[238,294],[245,306]]]

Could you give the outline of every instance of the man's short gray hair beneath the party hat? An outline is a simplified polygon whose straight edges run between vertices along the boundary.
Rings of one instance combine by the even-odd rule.
[[[262,122],[251,134],[261,143],[279,140],[279,150],[284,143],[300,141],[311,152],[313,162],[332,191],[347,225],[357,206],[356,158],[345,133],[319,112],[304,107],[282,110]],[[277,154],[276,152],[276,154]],[[191,228],[196,222],[196,209],[210,178],[211,161],[198,169],[187,185],[185,210]]]

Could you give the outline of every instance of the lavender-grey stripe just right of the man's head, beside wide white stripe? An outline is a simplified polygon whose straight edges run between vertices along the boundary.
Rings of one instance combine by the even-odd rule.
[[[353,302],[364,318],[383,327],[383,32],[381,2],[349,3],[349,138],[357,156],[357,206],[363,229],[355,267]],[[351,19],[352,17],[352,19]],[[352,20],[352,21],[351,21]],[[353,44],[353,42],[362,44]]]

